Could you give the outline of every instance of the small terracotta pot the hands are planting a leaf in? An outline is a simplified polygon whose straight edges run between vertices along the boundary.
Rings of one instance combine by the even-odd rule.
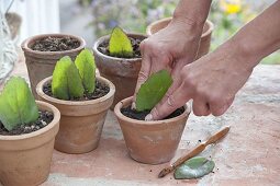
[[[147,164],[170,161],[180,142],[190,107],[186,105],[183,114],[170,119],[145,121],[128,118],[121,113],[122,107],[131,104],[132,97],[128,97],[114,108],[131,158]]]

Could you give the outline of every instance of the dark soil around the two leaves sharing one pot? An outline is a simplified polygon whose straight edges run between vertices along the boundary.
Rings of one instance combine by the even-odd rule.
[[[93,93],[91,94],[83,94],[83,97],[79,97],[79,98],[72,98],[71,101],[87,101],[87,100],[96,100],[99,97],[104,96],[105,94],[108,94],[110,91],[110,88],[99,81],[96,81],[96,90]],[[47,94],[48,96],[54,97],[53,92],[52,92],[52,84],[51,83],[46,83],[43,86],[43,92],[45,94]]]

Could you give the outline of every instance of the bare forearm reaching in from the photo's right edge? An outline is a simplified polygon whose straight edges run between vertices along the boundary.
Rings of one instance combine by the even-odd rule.
[[[246,61],[254,68],[262,58],[280,48],[280,0],[245,25],[229,39]]]

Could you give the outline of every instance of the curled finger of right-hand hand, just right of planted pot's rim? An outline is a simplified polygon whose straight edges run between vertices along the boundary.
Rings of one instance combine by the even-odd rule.
[[[208,116],[211,114],[209,104],[203,97],[193,98],[192,111],[195,116]]]

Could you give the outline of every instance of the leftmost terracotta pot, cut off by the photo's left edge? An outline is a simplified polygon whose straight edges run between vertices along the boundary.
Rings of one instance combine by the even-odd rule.
[[[31,133],[0,135],[0,183],[4,186],[40,185],[48,177],[60,113],[48,103],[36,103],[41,111],[54,114],[51,124]]]

